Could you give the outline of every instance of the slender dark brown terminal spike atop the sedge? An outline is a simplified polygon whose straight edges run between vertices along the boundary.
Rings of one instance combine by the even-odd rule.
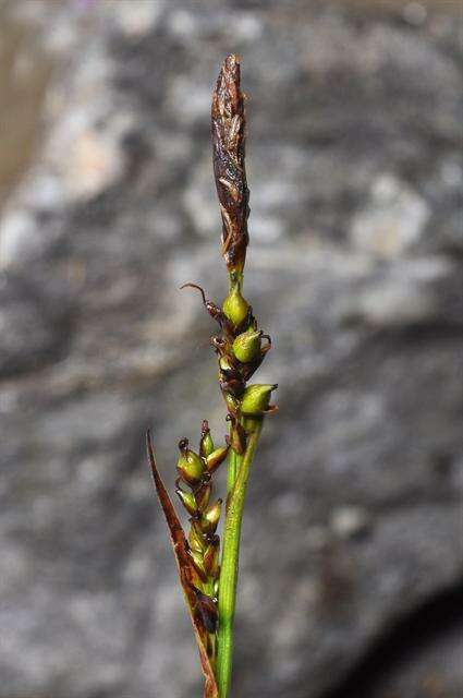
[[[223,61],[212,95],[212,160],[222,217],[222,254],[229,272],[243,272],[248,243],[249,191],[244,167],[245,116],[240,59]]]

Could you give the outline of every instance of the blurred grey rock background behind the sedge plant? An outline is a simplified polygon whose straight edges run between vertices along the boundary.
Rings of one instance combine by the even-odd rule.
[[[459,2],[0,5],[0,697],[191,698],[144,452],[223,409],[210,164],[242,57],[246,294],[278,382],[249,486],[236,698],[456,698]]]

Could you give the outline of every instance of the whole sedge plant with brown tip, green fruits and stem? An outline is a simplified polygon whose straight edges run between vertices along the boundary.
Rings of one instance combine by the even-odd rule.
[[[199,649],[204,697],[229,698],[246,485],[265,416],[277,409],[270,405],[277,385],[247,384],[270,350],[271,340],[259,329],[243,294],[249,191],[244,163],[244,95],[240,86],[240,60],[234,55],[224,60],[212,94],[211,131],[214,176],[222,219],[221,251],[229,291],[222,304],[217,305],[206,298],[200,286],[188,282],[182,288],[199,290],[206,311],[218,325],[211,346],[218,360],[228,434],[218,446],[204,420],[197,452],[190,447],[186,438],[179,443],[175,492],[190,516],[187,533],[159,476],[149,433],[147,442],[156,492],[168,522]],[[212,496],[214,476],[226,461],[227,501],[222,507],[222,500]],[[217,533],[221,516],[224,516],[222,543]]]

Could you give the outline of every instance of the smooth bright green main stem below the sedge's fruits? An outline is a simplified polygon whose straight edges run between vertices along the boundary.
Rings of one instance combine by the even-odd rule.
[[[219,638],[216,677],[220,698],[228,698],[233,660],[233,619],[236,602],[237,563],[240,555],[241,522],[246,495],[249,467],[259,440],[263,420],[253,420],[246,450],[242,456],[232,452],[229,464],[229,493],[223,529],[223,552],[219,585]]]

